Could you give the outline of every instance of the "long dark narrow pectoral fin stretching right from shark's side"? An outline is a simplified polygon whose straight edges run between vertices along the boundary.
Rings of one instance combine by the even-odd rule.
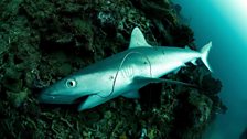
[[[179,81],[173,81],[173,79],[165,79],[165,78],[152,78],[152,77],[142,77],[138,76],[133,78],[135,82],[142,83],[142,84],[150,84],[150,83],[169,83],[169,84],[178,84],[178,85],[183,85],[183,86],[189,86],[193,88],[198,88],[198,86],[184,83],[184,82],[179,82]]]

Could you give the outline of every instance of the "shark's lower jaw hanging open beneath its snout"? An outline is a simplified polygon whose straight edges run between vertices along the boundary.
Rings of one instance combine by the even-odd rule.
[[[79,104],[78,111],[93,108],[95,106],[106,103],[107,100],[107,98],[101,97],[99,95],[90,95]]]

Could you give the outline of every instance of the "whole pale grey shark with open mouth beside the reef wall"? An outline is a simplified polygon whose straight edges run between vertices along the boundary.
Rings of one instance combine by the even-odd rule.
[[[151,46],[139,28],[131,33],[129,49],[96,62],[44,89],[40,101],[73,104],[84,96],[78,110],[89,109],[115,97],[138,98],[138,89],[159,82],[159,77],[179,70],[185,63],[201,58],[206,67],[210,42],[201,52],[190,49]]]

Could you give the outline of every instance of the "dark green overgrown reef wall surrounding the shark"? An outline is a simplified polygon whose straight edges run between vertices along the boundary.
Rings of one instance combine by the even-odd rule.
[[[0,7],[1,138],[197,139],[227,109],[221,81],[203,64],[165,76],[202,89],[151,84],[140,100],[120,97],[82,113],[39,104],[42,88],[126,50],[135,26],[150,44],[196,50],[181,7],[168,0],[2,0]]]

